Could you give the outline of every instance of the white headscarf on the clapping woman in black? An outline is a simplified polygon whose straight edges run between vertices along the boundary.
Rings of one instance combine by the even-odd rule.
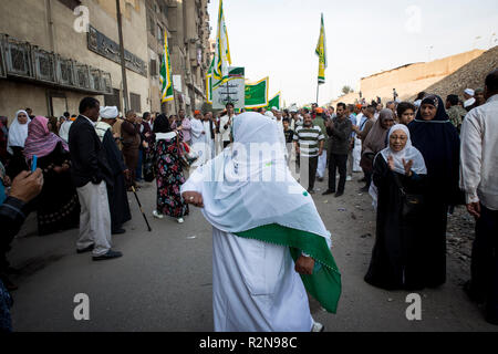
[[[387,136],[387,140],[391,138],[391,135],[396,131],[403,131],[408,137],[405,147],[401,152],[394,152],[391,148],[391,145],[383,149],[380,154],[384,157],[385,162],[390,156],[394,159],[394,170],[398,174],[405,174],[405,167],[403,165],[403,159],[405,163],[413,160],[412,170],[417,175],[427,175],[427,167],[425,166],[424,157],[421,152],[412,145],[412,139],[409,136],[408,127],[404,124],[394,125]]]

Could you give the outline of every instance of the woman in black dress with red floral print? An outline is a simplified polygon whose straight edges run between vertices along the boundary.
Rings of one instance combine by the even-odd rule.
[[[157,208],[153,211],[155,218],[164,215],[176,218],[179,223],[188,215],[188,205],[180,196],[180,186],[185,184],[180,162],[179,142],[181,133],[172,131],[166,115],[160,114],[154,123],[156,142],[154,145],[154,165],[157,183]]]

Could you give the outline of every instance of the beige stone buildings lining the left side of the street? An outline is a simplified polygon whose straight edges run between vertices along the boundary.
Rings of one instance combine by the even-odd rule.
[[[128,107],[168,114],[199,108],[210,53],[208,0],[120,3]],[[86,14],[89,25],[82,27]],[[165,32],[181,90],[175,92],[175,103],[162,106],[158,74]],[[11,121],[25,107],[46,116],[77,114],[84,96],[124,113],[118,43],[115,0],[2,0],[0,115]]]

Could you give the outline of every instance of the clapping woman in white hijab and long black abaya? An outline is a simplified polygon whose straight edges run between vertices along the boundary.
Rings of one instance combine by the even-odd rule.
[[[374,159],[376,239],[365,281],[387,290],[422,290],[424,271],[424,158],[412,146],[409,131],[398,124],[388,133],[390,145]]]

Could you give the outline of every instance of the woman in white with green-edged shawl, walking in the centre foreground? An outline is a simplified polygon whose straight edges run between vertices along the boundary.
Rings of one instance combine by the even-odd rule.
[[[234,145],[181,186],[212,226],[215,331],[320,331],[305,290],[336,311],[341,275],[330,232],[292,178],[280,134],[269,117],[238,115]]]

